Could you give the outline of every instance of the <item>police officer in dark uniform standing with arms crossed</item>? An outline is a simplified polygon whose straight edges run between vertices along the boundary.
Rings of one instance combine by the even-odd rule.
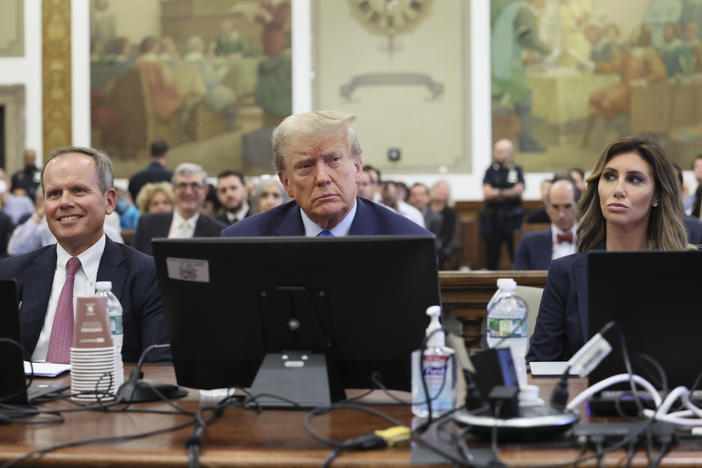
[[[493,148],[493,163],[483,178],[485,209],[480,213],[480,235],[485,239],[489,270],[497,270],[502,243],[507,242],[510,260],[514,259],[514,231],[522,225],[524,172],[514,164],[514,145],[502,139]]]

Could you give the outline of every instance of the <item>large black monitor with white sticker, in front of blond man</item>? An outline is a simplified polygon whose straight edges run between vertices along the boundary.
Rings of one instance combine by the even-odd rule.
[[[250,387],[264,356],[292,350],[325,356],[332,399],[371,388],[373,372],[408,390],[425,311],[440,303],[433,237],[155,239],[153,251],[188,387]]]

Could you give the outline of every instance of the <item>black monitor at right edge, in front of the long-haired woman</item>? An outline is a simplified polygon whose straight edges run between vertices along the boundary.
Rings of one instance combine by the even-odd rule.
[[[588,269],[589,336],[614,320],[635,374],[657,379],[650,365],[641,364],[645,353],[661,364],[669,389],[690,388],[702,372],[702,253],[592,252]],[[626,372],[616,336],[606,335],[613,350],[590,374],[591,383]]]

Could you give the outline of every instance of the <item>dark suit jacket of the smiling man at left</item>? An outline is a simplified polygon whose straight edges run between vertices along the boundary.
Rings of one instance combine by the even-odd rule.
[[[0,277],[17,281],[21,302],[22,344],[31,355],[44,326],[46,308],[56,271],[56,245],[34,250],[0,263]],[[122,359],[137,362],[152,344],[168,343],[161,293],[154,259],[108,237],[100,259],[97,281],[112,281],[112,292],[122,304],[124,344]],[[170,352],[154,350],[148,361],[171,359]]]

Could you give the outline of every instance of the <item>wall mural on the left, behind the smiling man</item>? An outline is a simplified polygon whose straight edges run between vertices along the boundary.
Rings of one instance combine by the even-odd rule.
[[[271,172],[292,111],[290,0],[94,0],[90,18],[92,145],[118,177],[156,138],[171,167]]]

